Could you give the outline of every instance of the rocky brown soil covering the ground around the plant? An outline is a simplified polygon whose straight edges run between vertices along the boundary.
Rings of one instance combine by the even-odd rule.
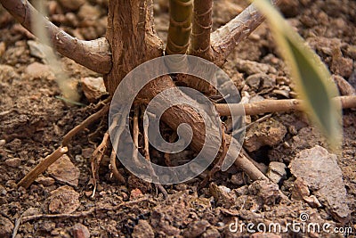
[[[169,19],[166,2],[155,2],[156,29],[162,39],[166,39]],[[334,78],[355,87],[356,2],[282,2],[289,23],[320,55]],[[107,1],[46,4],[49,19],[69,34],[84,39],[104,36]],[[238,0],[214,1],[214,29],[246,6]],[[245,149],[261,168],[269,168],[269,176],[277,184],[253,183],[239,168],[230,168],[217,173],[202,189],[198,185],[204,175],[186,184],[167,185],[165,199],[156,186],[124,168],[120,171],[127,182],[118,185],[110,176],[108,154],[101,161],[98,187],[92,196],[90,157],[107,128],[107,119],[103,119],[77,135],[69,144],[68,156],[27,190],[18,188],[20,179],[58,148],[63,135],[96,111],[80,82],[102,76],[61,58],[62,70],[73,82],[70,86],[81,94],[82,105],[69,106],[59,97],[61,90],[41,55],[30,48],[28,42],[35,38],[3,8],[0,40],[0,237],[13,233],[17,238],[355,237],[354,110],[344,110],[344,143],[337,155],[320,147],[328,148],[301,112],[247,117],[251,125]],[[296,97],[295,84],[266,23],[231,53],[223,70],[249,102]],[[346,94],[342,89],[341,94]],[[257,119],[261,120],[255,122]],[[229,125],[229,119],[224,120]],[[190,160],[193,155],[188,150],[170,159]],[[154,150],[150,156],[154,161],[164,160]],[[304,168],[305,161],[310,166]],[[263,228],[269,231],[271,223],[282,226],[282,232],[258,233]],[[294,223],[299,224],[295,229],[287,225]],[[309,230],[308,225],[312,225]],[[323,225],[329,228],[322,230]],[[345,233],[328,233],[336,231],[335,227]]]

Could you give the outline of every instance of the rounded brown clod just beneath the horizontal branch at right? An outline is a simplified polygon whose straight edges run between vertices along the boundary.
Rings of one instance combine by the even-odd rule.
[[[248,152],[255,152],[264,145],[279,144],[286,134],[287,128],[275,119],[255,123],[247,130],[244,147]]]

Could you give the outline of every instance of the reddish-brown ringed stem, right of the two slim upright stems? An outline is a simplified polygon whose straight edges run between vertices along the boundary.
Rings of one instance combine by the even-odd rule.
[[[212,20],[213,0],[194,0],[193,29],[191,32],[190,54],[212,59],[210,47],[210,32]]]

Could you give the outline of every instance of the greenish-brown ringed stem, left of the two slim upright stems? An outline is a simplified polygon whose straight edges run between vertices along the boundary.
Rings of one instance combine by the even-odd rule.
[[[169,1],[166,54],[184,54],[190,44],[192,0]]]

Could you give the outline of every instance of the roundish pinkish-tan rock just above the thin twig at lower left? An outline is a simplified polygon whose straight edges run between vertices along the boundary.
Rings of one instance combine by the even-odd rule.
[[[72,213],[80,206],[78,199],[79,193],[69,185],[64,185],[52,192],[48,208],[51,213]]]

